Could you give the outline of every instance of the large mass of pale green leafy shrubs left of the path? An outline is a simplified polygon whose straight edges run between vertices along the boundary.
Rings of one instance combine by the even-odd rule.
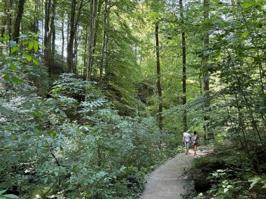
[[[51,93],[38,98],[29,87],[1,96],[0,189],[28,198],[137,198],[144,168],[158,162],[154,119],[121,117],[92,82],[71,74]]]

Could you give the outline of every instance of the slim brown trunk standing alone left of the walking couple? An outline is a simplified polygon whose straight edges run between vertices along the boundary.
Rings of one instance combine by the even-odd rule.
[[[161,87],[161,73],[160,73],[160,50],[159,50],[159,33],[158,22],[155,23],[155,40],[156,40],[156,66],[157,66],[157,89],[159,97],[159,112],[158,112],[158,126],[162,130],[162,87]]]

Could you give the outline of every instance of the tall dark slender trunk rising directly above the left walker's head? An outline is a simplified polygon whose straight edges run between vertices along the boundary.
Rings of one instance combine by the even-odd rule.
[[[181,17],[181,25],[184,25],[184,16],[183,16],[183,2],[179,0],[180,6],[180,17]],[[183,27],[182,27],[183,28]],[[182,84],[183,84],[183,97],[182,104],[186,105],[187,103],[187,88],[186,88],[186,34],[182,31]],[[183,132],[188,130],[188,121],[187,121],[187,110],[183,110]]]

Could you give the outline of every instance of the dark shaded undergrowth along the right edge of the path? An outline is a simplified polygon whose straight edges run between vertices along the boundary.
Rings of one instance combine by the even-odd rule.
[[[190,189],[183,198],[265,198],[266,175],[262,171],[256,170],[254,159],[246,152],[232,145],[217,145],[213,152],[193,161],[190,177],[196,193]]]

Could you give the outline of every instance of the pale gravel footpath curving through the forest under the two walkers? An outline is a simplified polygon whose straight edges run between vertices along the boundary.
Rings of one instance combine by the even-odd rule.
[[[189,181],[184,170],[190,168],[193,159],[203,156],[204,151],[197,151],[197,156],[190,149],[188,155],[177,154],[146,177],[146,189],[140,199],[181,199],[184,187]]]

